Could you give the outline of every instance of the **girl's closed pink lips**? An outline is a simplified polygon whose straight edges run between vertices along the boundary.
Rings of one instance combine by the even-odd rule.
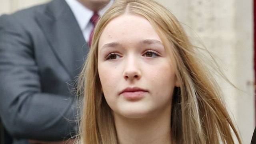
[[[126,99],[135,100],[142,98],[146,92],[148,91],[142,88],[128,87],[122,90],[119,95],[124,96]]]

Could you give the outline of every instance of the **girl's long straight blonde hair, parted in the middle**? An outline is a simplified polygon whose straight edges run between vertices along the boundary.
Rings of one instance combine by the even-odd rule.
[[[174,55],[180,87],[174,89],[171,112],[171,139],[176,144],[241,144],[238,132],[224,106],[219,86],[200,60],[176,17],[153,0],[116,0],[98,21],[92,46],[78,79],[83,99],[80,143],[118,144],[112,110],[102,96],[98,76],[98,41],[113,18],[136,14],[146,18]]]

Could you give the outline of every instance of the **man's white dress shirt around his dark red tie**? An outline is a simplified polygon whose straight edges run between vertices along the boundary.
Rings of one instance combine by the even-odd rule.
[[[68,6],[72,10],[78,22],[78,25],[82,30],[85,41],[88,42],[90,39],[90,33],[93,29],[93,25],[90,22],[90,19],[94,14],[94,12],[89,8],[87,8],[86,6],[84,6],[83,4],[81,4],[80,2],[78,2],[77,0],[66,0],[66,2],[68,3]],[[113,0],[110,0],[110,2],[98,12],[99,15],[101,16],[112,3],[113,3]]]

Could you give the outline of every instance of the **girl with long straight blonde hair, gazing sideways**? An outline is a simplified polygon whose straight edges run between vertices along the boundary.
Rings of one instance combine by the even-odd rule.
[[[197,49],[160,4],[117,0],[79,77],[80,143],[241,144]]]

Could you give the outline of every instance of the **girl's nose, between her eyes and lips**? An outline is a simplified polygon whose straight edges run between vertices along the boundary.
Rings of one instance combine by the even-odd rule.
[[[139,80],[141,78],[140,62],[135,58],[129,58],[124,65],[123,76],[125,80]]]

